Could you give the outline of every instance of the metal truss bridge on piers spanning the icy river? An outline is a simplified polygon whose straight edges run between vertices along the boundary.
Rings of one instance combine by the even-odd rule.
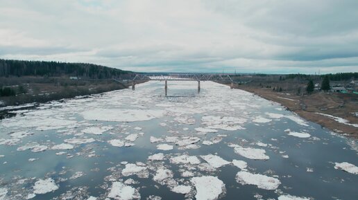
[[[168,81],[197,81],[198,82],[198,93],[200,93],[200,82],[201,81],[220,81],[220,82],[229,82],[231,83],[230,89],[234,88],[234,84],[230,75],[223,74],[209,74],[209,73],[171,73],[169,75],[151,75],[151,74],[137,74],[132,80],[132,89],[135,90],[135,81],[136,80],[157,80],[164,81],[165,86],[165,96],[167,96],[168,91]]]

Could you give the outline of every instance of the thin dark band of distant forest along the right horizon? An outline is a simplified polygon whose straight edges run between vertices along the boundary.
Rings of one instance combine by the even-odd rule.
[[[328,76],[328,78],[332,81],[350,80],[352,78],[358,79],[357,72],[329,73],[329,74],[324,74],[324,75],[309,75],[309,74],[294,73],[294,74],[288,74],[285,77],[286,77],[286,79],[298,78],[300,80],[309,80],[309,79],[313,79],[313,78],[325,78],[325,76]]]

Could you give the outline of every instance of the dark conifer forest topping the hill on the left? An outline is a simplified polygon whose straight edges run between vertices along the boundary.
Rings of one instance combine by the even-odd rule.
[[[0,59],[0,77],[21,77],[25,75],[58,77],[68,75],[80,78],[103,79],[119,78],[130,73],[132,72],[87,63]]]

